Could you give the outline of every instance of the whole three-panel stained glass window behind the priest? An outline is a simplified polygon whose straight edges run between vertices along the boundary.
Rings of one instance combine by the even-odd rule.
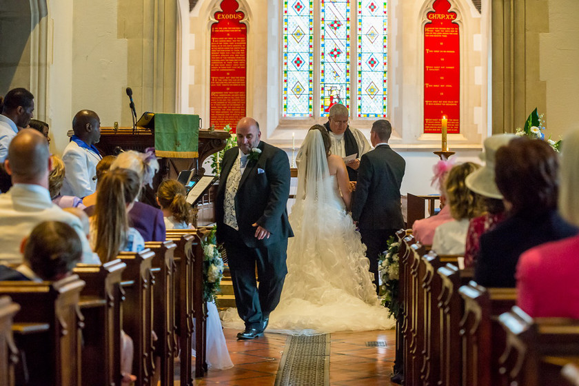
[[[385,0],[284,0],[283,116],[386,116],[387,19]]]

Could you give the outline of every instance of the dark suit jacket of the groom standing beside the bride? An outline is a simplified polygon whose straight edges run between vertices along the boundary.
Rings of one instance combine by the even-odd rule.
[[[404,227],[400,185],[406,161],[389,145],[380,145],[360,159],[352,218],[360,230]]]

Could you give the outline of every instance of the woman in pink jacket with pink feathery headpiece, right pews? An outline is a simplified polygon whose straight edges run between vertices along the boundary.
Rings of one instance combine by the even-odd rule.
[[[432,177],[431,186],[436,187],[436,190],[440,192],[440,212],[434,216],[430,216],[427,219],[420,219],[414,221],[412,224],[412,235],[417,241],[423,245],[432,245],[432,240],[434,239],[434,231],[438,225],[443,225],[452,221],[452,216],[450,214],[450,207],[447,205],[447,199],[444,193],[443,186],[445,185],[445,179],[448,172],[453,166],[453,161],[438,161],[436,165],[432,168],[434,171],[434,177]]]

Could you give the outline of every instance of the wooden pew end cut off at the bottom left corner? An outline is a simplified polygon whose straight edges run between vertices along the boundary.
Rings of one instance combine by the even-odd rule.
[[[12,318],[20,306],[9,296],[0,296],[0,385],[14,386],[14,365],[18,360],[12,338]]]

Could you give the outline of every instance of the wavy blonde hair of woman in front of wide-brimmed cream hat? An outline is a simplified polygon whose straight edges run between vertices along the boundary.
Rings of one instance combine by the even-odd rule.
[[[482,197],[467,187],[465,179],[480,167],[476,163],[465,162],[454,166],[445,179],[445,196],[450,214],[456,220],[473,219],[484,210]]]

